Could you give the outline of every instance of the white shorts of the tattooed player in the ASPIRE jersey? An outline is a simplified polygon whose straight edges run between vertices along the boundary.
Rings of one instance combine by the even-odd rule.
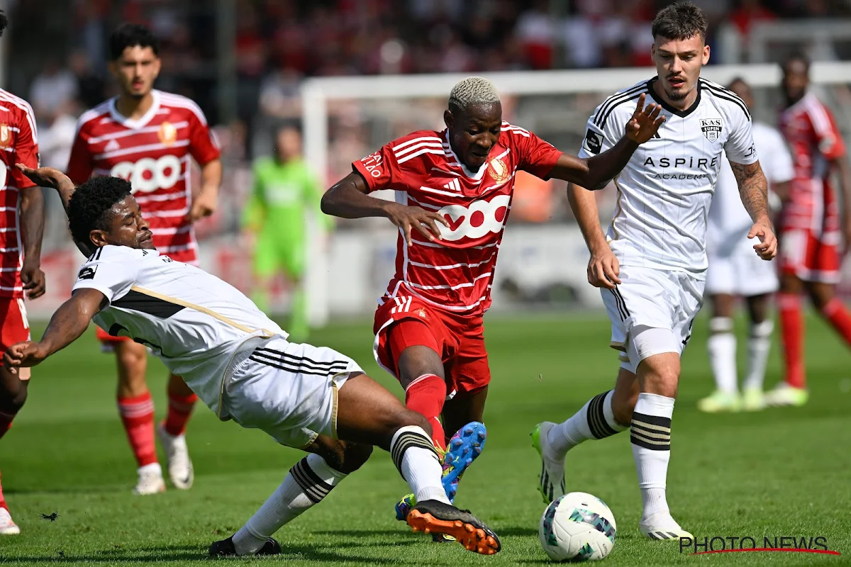
[[[685,272],[636,266],[620,266],[619,277],[616,289],[600,291],[620,366],[634,374],[649,356],[683,354],[703,304],[704,282]]]

